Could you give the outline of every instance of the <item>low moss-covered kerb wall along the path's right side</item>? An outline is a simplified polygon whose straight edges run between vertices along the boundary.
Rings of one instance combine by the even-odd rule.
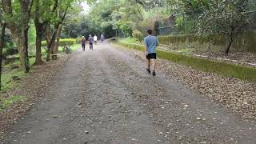
[[[143,46],[138,44],[130,44],[122,41],[118,41],[116,44],[135,50],[144,50]],[[197,70],[222,74],[224,76],[239,78],[250,82],[256,82],[256,69],[251,67],[234,65],[226,62],[217,62],[205,58],[195,58],[190,55],[161,50],[158,50],[158,58],[167,59],[185,66],[191,66]]]

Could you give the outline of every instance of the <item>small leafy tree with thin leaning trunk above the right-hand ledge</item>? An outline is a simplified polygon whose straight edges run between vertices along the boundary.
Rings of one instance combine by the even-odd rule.
[[[229,38],[228,54],[235,36],[248,25],[247,0],[227,0],[212,3],[199,17],[199,34],[225,34]]]

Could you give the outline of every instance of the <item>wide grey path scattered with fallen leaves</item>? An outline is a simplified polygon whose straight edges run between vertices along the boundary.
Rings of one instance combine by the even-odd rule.
[[[255,143],[256,123],[108,44],[70,58],[6,143]]]

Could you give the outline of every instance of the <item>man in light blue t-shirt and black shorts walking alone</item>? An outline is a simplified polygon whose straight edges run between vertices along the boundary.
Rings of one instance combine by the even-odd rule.
[[[145,54],[146,54],[146,59],[147,59],[147,69],[146,71],[148,73],[151,73],[150,66],[152,62],[152,67],[153,67],[153,75],[155,76],[155,65],[156,65],[156,59],[157,59],[157,54],[156,54],[156,48],[158,46],[158,38],[155,38],[152,35],[153,31],[152,30],[147,30],[148,36],[144,38],[144,44],[145,44]]]

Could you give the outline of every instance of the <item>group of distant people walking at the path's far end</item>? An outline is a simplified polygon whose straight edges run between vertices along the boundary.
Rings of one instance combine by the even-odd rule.
[[[98,41],[98,37],[96,34],[94,34],[94,37],[91,36],[91,34],[89,35],[88,38],[88,42],[89,42],[89,46],[90,46],[90,50],[94,50],[94,44],[97,45],[97,41]],[[101,35],[101,41],[104,41],[104,35]],[[82,50],[85,51],[86,50],[86,38],[84,36],[82,36],[81,39],[81,44],[82,44]]]

